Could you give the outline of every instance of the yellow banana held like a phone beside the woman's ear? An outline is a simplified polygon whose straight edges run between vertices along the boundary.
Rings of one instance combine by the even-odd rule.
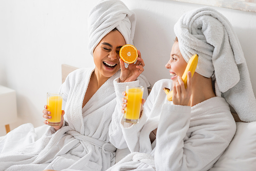
[[[191,72],[191,77],[193,77],[193,75],[196,71],[196,68],[197,68],[197,63],[198,63],[198,55],[197,54],[193,55],[188,60],[187,67],[186,67],[186,69],[185,69],[185,71],[184,71],[184,73],[181,77],[181,79],[184,82],[185,89],[187,88],[187,72],[190,71]],[[173,101],[173,91],[170,91],[170,89],[168,89],[168,88],[164,88],[163,90],[167,94],[167,100],[168,101]]]

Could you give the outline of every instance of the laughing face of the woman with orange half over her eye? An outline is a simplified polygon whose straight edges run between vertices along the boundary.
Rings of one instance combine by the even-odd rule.
[[[119,50],[125,40],[118,30],[113,30],[101,39],[93,52],[95,74],[99,77],[111,77],[119,69]]]

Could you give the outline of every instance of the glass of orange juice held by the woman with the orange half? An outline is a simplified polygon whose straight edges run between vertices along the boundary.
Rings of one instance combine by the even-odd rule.
[[[47,119],[49,121],[48,125],[56,126],[60,125],[61,121],[61,112],[62,112],[62,98],[63,93],[47,93],[47,110],[51,112],[51,119]]]

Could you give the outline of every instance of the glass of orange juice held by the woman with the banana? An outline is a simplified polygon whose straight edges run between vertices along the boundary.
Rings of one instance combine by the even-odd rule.
[[[143,86],[126,86],[126,108],[124,109],[123,121],[129,123],[138,123],[140,117],[140,108],[142,102]]]

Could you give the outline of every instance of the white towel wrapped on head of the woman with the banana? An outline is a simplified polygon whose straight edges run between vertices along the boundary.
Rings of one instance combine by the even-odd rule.
[[[175,24],[183,58],[199,55],[196,72],[215,77],[217,91],[243,121],[256,121],[256,99],[239,39],[228,19],[203,7],[185,13]],[[217,92],[217,94],[221,94]]]

